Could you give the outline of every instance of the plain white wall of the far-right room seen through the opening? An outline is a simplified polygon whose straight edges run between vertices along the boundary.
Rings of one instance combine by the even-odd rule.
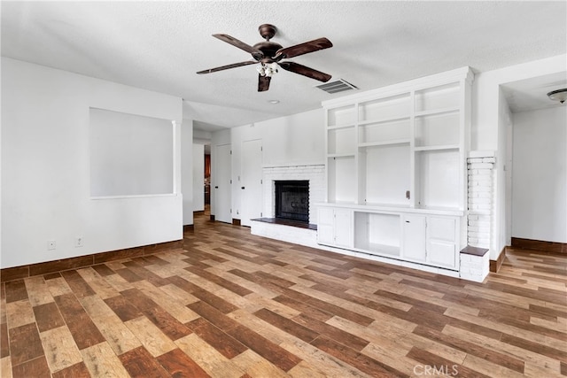
[[[512,236],[567,243],[567,106],[513,120]]]

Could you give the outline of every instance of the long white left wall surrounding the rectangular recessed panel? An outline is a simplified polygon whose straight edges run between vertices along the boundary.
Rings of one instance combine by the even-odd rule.
[[[89,197],[89,107],[175,120],[174,194]],[[2,58],[1,266],[182,239],[182,118],[181,98]]]

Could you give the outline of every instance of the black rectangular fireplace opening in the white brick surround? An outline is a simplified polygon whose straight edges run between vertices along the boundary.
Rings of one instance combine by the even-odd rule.
[[[275,181],[276,219],[309,223],[309,181]]]

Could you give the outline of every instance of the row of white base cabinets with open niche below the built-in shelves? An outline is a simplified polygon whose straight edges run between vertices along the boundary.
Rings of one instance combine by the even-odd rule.
[[[455,271],[460,218],[423,210],[322,204],[317,243]]]

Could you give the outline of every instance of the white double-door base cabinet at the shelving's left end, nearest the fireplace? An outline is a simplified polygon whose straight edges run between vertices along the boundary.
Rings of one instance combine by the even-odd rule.
[[[340,248],[353,247],[353,212],[322,207],[318,213],[317,243]]]

